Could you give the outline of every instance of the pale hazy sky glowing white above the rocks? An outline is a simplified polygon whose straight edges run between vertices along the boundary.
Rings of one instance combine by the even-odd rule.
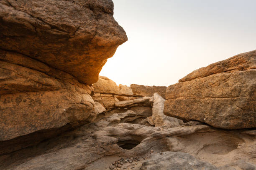
[[[256,50],[256,0],[113,0],[128,41],[100,75],[169,86],[193,70]]]

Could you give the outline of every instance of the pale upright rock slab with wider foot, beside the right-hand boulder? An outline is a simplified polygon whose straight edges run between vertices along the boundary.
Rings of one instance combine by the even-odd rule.
[[[174,117],[164,115],[164,98],[159,94],[154,93],[154,103],[152,108],[152,120],[155,126],[168,126],[177,127],[179,126],[179,120]]]

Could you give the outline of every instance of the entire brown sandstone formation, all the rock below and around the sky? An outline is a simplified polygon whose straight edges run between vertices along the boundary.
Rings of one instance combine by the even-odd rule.
[[[256,51],[117,86],[126,40],[111,0],[0,0],[0,170],[255,170]]]

